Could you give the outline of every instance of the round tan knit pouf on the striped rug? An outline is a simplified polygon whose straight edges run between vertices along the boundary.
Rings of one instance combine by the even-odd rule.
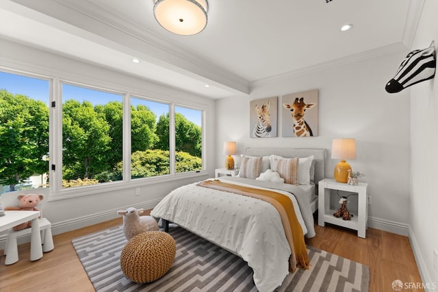
[[[175,240],[166,232],[143,232],[123,247],[120,267],[133,282],[153,282],[172,267],[176,251]]]

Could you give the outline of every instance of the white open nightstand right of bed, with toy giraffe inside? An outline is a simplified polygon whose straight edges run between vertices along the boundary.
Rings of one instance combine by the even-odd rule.
[[[357,193],[357,214],[353,214],[351,220],[336,218],[333,213],[337,211],[330,208],[330,190],[346,191]],[[340,206],[340,205],[339,205]],[[326,178],[318,183],[318,225],[325,226],[325,223],[332,223],[357,230],[357,236],[365,238],[366,228],[368,227],[368,184],[359,182],[357,186],[349,186],[342,182]]]

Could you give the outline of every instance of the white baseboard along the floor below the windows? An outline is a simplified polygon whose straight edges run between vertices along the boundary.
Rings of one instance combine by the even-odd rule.
[[[105,222],[105,221],[108,221],[111,219],[115,219],[117,217],[120,217],[120,215],[117,214],[118,210],[126,210],[129,207],[134,207],[137,209],[144,208],[144,210],[149,210],[149,209],[152,209],[155,206],[157,206],[157,204],[161,200],[162,200],[162,198],[155,199],[153,201],[141,202],[141,203],[138,203],[136,205],[122,206],[118,209],[106,210],[104,212],[94,213],[91,215],[77,217],[77,218],[73,218],[73,219],[69,219],[69,220],[65,220],[65,221],[60,221],[60,222],[55,222],[55,223],[52,222],[52,226],[51,226],[52,234],[53,235],[61,234],[64,232],[77,230],[79,228],[83,228],[86,226],[91,226],[91,225],[94,225],[97,223],[101,223],[101,222]],[[0,250],[4,250],[5,241],[6,241],[6,235],[2,234],[0,236]],[[27,243],[29,241],[30,241],[30,235],[21,236],[21,237],[18,237],[18,239],[17,239],[18,245],[23,244],[23,243]]]

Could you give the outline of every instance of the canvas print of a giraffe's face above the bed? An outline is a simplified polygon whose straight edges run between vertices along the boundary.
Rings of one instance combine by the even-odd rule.
[[[283,102],[288,111],[283,114],[283,137],[318,136],[318,90],[285,95],[283,101],[288,101]]]

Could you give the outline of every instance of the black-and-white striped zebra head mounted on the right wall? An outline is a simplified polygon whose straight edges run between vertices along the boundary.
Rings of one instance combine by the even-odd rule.
[[[435,76],[434,42],[427,49],[411,51],[398,67],[396,76],[385,86],[388,93],[398,93],[404,88]]]

